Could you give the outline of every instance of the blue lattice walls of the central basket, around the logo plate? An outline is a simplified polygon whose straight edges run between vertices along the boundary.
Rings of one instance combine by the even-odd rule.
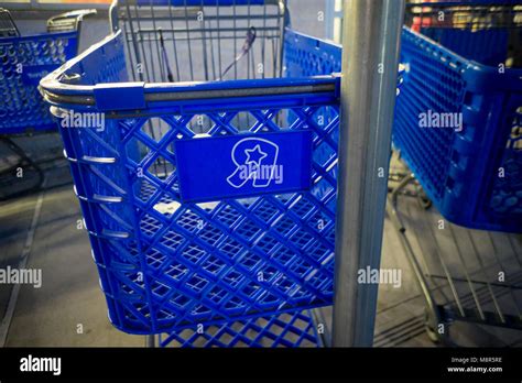
[[[111,81],[118,80],[124,73],[124,62],[117,59],[121,54],[121,34],[116,34],[76,59],[69,70],[85,73],[85,84],[104,80],[97,75],[102,66]],[[113,57],[110,67],[107,57]],[[279,81],[209,86],[249,88]],[[335,83],[330,78],[307,84],[320,81]],[[191,90],[198,87],[207,85]],[[316,116],[325,109],[336,117],[317,124]],[[196,99],[142,112],[148,117],[112,116],[104,131],[61,130],[115,326],[132,333],[159,333],[331,304],[335,92]],[[289,127],[282,117],[290,112],[295,118]],[[236,119],[246,113],[249,125]],[[286,195],[182,204],[173,142],[195,135],[192,121],[198,116],[211,121],[206,133],[213,136],[311,130],[314,186]],[[148,130],[151,119],[161,120],[155,140]],[[331,146],[326,158],[316,155],[324,145]],[[166,162],[166,175],[155,168],[157,158]]]

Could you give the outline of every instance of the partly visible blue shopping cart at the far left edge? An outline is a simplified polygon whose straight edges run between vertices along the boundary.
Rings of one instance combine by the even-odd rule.
[[[12,139],[56,131],[48,106],[37,90],[39,81],[77,54],[81,20],[94,12],[63,13],[47,21],[46,33],[21,35],[9,11],[0,9],[0,141],[13,154],[3,158],[1,174],[9,175],[9,184],[12,184],[13,171],[19,167],[36,172],[31,189],[39,188],[43,182],[39,164]]]

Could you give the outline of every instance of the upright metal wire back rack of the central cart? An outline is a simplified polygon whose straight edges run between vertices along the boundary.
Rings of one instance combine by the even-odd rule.
[[[115,4],[112,25],[121,29],[126,42],[127,70],[134,81],[183,83],[282,77],[285,26],[283,0],[141,0]],[[278,113],[282,123],[286,117]],[[255,121],[238,113],[231,123],[248,130]],[[198,116],[189,127],[206,134],[213,127]],[[146,123],[153,140],[168,127],[160,119]],[[172,173],[164,158],[154,163],[155,173]]]

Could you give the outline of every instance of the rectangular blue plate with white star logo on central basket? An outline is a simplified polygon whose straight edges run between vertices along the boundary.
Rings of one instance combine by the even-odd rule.
[[[312,133],[293,131],[195,138],[174,143],[184,201],[306,190]]]

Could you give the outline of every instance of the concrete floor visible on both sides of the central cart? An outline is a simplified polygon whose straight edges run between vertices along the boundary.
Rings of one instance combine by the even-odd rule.
[[[51,138],[51,141],[55,139]],[[0,313],[3,316],[0,329],[4,331],[4,337],[0,333],[0,340],[4,338],[8,347],[144,346],[144,337],[120,332],[109,324],[88,237],[85,230],[78,229],[81,215],[67,164],[59,160],[47,162],[45,167],[46,190],[0,204],[0,265],[15,267],[25,254],[26,267],[42,269],[45,281],[41,288],[23,285],[15,305],[12,286],[0,286]],[[431,250],[426,249],[433,243],[426,239],[420,222],[439,218],[436,209],[425,211],[410,197],[401,197],[399,207],[405,214],[415,253],[429,253]],[[32,222],[34,236],[30,230]],[[396,230],[388,218],[384,229],[381,267],[402,270],[402,286],[380,286],[374,346],[433,347],[435,344],[424,329],[423,297]],[[463,237],[459,233],[459,238]],[[508,258],[522,254],[520,237],[513,236],[510,250],[505,247],[507,234],[490,236],[498,242],[497,250]],[[449,242],[442,243],[442,251],[447,251],[445,256],[453,256],[455,252]],[[515,253],[508,254],[510,251]],[[521,302],[520,296],[518,299]],[[318,321],[324,321],[328,328],[331,310],[322,309],[319,314]],[[6,326],[8,321],[9,327]],[[83,331],[78,331],[79,325]],[[489,326],[457,322],[452,326],[450,333],[454,341],[464,346],[522,344],[521,331]]]

